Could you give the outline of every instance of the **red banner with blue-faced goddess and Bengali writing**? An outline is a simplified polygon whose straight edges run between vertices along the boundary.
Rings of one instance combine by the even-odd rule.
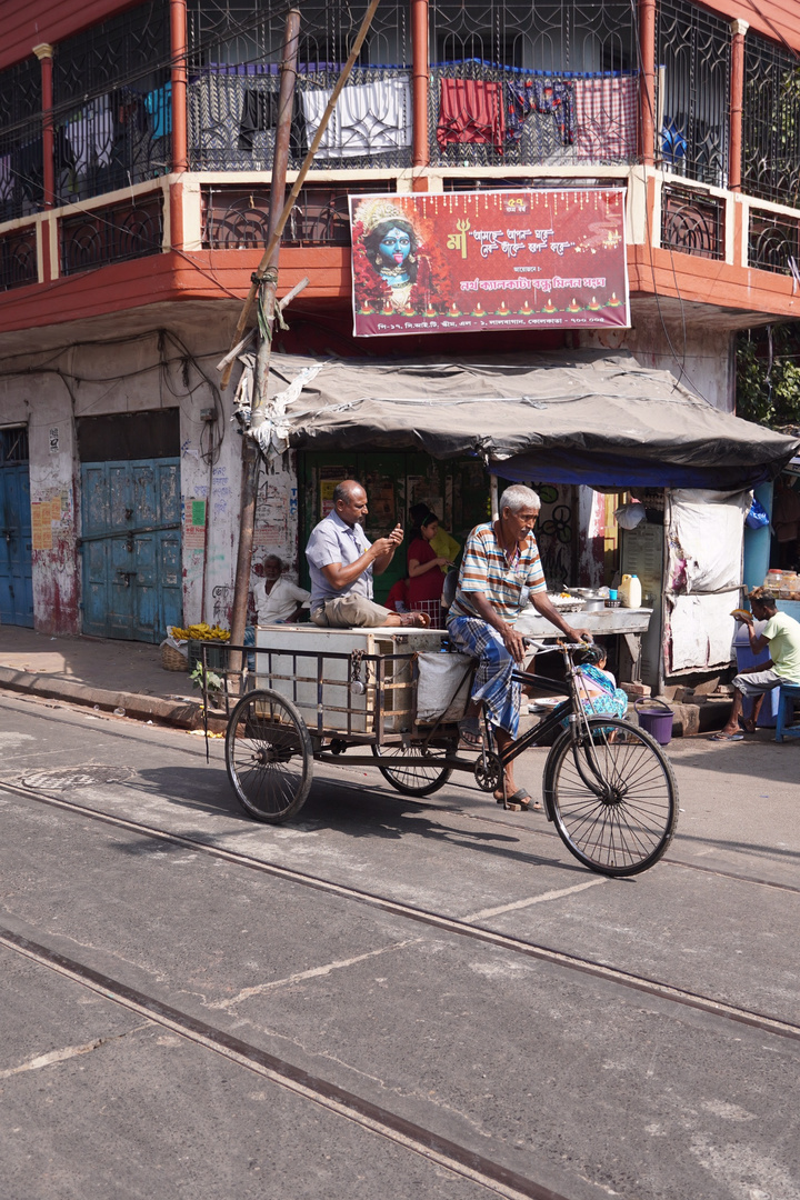
[[[353,332],[627,328],[625,188],[351,196]]]

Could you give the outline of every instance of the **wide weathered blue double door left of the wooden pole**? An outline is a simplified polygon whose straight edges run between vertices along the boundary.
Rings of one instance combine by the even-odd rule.
[[[182,619],[180,461],[84,463],[83,631],[160,642]]]

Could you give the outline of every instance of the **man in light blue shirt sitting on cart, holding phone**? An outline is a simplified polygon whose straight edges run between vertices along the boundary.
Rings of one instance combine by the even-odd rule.
[[[314,526],[306,558],[311,572],[311,619],[323,629],[414,625],[426,629],[422,612],[392,612],[372,599],[372,576],[383,575],[403,541],[397,524],[387,538],[369,542],[362,528],[367,493],[354,479],[333,488],[333,508]]]

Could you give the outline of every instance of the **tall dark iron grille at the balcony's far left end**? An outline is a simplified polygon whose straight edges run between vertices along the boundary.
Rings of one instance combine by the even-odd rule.
[[[42,200],[42,68],[25,59],[0,72],[0,221],[36,212]]]

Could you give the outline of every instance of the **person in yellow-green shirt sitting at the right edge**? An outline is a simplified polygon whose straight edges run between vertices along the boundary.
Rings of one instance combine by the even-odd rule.
[[[747,599],[752,612],[741,610],[736,617],[747,625],[753,654],[760,654],[769,647],[770,656],[765,664],[741,671],[735,677],[730,716],[718,733],[711,734],[711,742],[741,742],[744,733],[739,725],[747,733],[754,732],[768,691],[780,688],[782,683],[800,684],[800,622],[778,612],[775,596],[766,588],[756,588]],[[766,622],[760,634],[753,629],[754,620]],[[753,712],[746,721],[740,721],[745,696],[753,697]]]

